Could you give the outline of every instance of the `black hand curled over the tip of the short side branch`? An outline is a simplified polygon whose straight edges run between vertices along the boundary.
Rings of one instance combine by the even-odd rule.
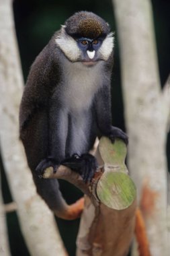
[[[45,158],[36,167],[37,175],[38,175],[39,178],[42,178],[46,168],[52,167],[53,168],[53,172],[56,172],[58,166],[59,166],[58,162],[56,162],[54,159],[52,159],[52,158]]]

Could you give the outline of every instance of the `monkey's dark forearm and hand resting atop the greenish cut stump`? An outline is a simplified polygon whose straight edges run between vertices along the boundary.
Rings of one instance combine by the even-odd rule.
[[[95,97],[95,114],[97,127],[102,135],[105,135],[114,142],[116,137],[128,143],[128,136],[118,127],[112,126],[110,86],[105,84]]]

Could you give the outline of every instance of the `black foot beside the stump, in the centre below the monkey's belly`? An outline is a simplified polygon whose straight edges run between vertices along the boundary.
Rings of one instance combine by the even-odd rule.
[[[90,182],[97,170],[97,160],[91,154],[83,154],[81,156],[74,154],[71,158],[67,158],[61,164],[78,172],[85,183]]]

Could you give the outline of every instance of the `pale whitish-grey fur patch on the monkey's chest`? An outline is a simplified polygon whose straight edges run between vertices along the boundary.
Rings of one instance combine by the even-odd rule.
[[[101,75],[95,68],[69,72],[65,81],[64,104],[71,111],[89,108],[97,90],[101,87]]]

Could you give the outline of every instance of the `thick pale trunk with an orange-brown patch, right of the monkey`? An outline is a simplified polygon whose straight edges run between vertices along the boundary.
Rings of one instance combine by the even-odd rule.
[[[154,256],[167,255],[169,86],[161,92],[148,0],[113,0],[120,43],[128,162]]]

